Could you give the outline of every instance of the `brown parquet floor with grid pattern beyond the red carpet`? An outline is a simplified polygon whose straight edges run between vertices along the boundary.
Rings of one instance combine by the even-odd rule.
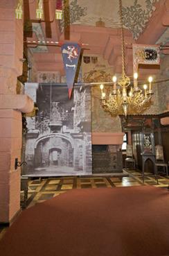
[[[141,173],[127,170],[129,176],[103,176],[103,177],[64,177],[30,180],[28,182],[28,207],[40,203],[48,198],[58,196],[70,189],[85,189],[99,187],[129,187],[152,185],[156,187],[168,187],[169,176],[158,175],[159,184],[152,173],[145,173],[143,184]],[[21,192],[23,196],[23,192]]]

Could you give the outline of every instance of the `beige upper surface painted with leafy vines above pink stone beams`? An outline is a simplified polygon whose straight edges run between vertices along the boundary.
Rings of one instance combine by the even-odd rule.
[[[159,0],[123,0],[123,22],[134,39],[137,39],[155,10],[154,4]],[[64,0],[64,19],[61,27],[70,24],[96,26],[100,19],[106,27],[120,26],[118,17],[118,0]]]

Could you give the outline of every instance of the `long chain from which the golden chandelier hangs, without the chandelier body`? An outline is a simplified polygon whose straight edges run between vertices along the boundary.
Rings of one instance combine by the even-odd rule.
[[[123,29],[123,12],[122,12],[122,0],[119,0],[119,14],[121,22],[121,56],[122,56],[122,76],[125,75],[125,39]]]

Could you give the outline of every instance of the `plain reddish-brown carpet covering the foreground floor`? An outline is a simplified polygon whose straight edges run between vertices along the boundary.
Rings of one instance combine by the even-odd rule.
[[[169,192],[73,189],[24,210],[1,239],[0,255],[169,255]]]

